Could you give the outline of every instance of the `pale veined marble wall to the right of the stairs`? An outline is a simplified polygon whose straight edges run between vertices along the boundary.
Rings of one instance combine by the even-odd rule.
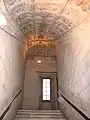
[[[57,41],[60,91],[90,117],[90,19],[61,36]],[[69,120],[83,120],[64,100],[60,109]]]

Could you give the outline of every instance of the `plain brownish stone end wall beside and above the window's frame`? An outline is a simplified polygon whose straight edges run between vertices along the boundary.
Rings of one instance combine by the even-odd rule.
[[[37,60],[42,60],[41,64]],[[51,57],[35,57],[26,61],[24,81],[23,109],[39,109],[41,95],[40,75],[56,72],[56,59]],[[54,73],[55,74],[55,73]]]

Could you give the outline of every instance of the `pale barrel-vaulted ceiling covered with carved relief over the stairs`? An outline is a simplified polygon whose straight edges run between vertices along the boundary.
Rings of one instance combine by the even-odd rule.
[[[8,14],[25,36],[50,34],[54,40],[81,22],[87,15],[80,6],[84,1],[89,5],[89,0],[3,1]]]

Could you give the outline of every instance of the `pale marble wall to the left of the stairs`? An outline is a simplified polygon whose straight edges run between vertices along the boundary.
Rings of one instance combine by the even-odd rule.
[[[12,29],[8,23],[6,26],[0,26],[0,115],[23,87],[23,43],[14,37],[15,33],[14,28]],[[12,120],[21,103],[21,98],[22,94],[14,101],[3,120]]]

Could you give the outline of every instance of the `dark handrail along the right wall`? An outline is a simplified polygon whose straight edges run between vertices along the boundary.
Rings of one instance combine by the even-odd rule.
[[[60,91],[58,94],[70,105],[72,106],[85,120],[90,120],[88,116],[86,116],[78,107],[76,107],[73,103],[71,103]]]

